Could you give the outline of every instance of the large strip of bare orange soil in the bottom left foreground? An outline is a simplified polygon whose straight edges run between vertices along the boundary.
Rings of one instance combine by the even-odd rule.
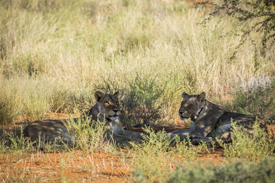
[[[1,154],[0,180],[130,182],[133,169],[126,159],[111,154],[85,154],[83,151],[36,153],[19,159],[14,158],[14,154]]]

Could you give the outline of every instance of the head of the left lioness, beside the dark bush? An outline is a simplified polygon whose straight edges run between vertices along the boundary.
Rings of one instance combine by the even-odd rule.
[[[100,91],[96,91],[94,96],[96,97],[96,108],[102,116],[109,121],[115,121],[119,119],[120,106],[119,106],[119,93],[116,92],[113,95],[103,94]]]

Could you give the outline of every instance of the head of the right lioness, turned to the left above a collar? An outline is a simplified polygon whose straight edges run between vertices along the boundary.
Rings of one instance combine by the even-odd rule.
[[[182,93],[182,98],[179,117],[182,121],[186,121],[188,118],[195,121],[206,103],[206,93],[203,92],[201,95],[188,95],[184,92]]]

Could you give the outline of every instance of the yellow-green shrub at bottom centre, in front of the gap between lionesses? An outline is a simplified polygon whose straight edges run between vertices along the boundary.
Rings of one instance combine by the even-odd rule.
[[[169,172],[170,143],[173,141],[164,130],[155,133],[150,127],[143,128],[143,143],[133,145],[136,182],[161,182]]]

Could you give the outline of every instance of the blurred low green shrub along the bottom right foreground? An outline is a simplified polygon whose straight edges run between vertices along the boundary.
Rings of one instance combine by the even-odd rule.
[[[258,163],[233,160],[225,164],[184,164],[170,173],[167,182],[274,182],[275,159]]]

